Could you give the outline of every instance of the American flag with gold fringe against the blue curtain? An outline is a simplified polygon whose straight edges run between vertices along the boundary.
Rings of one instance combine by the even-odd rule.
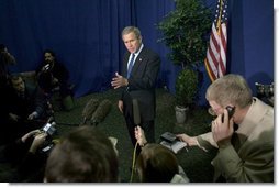
[[[219,0],[215,19],[212,23],[210,44],[204,59],[211,81],[226,73],[226,44],[227,44],[227,0]]]

